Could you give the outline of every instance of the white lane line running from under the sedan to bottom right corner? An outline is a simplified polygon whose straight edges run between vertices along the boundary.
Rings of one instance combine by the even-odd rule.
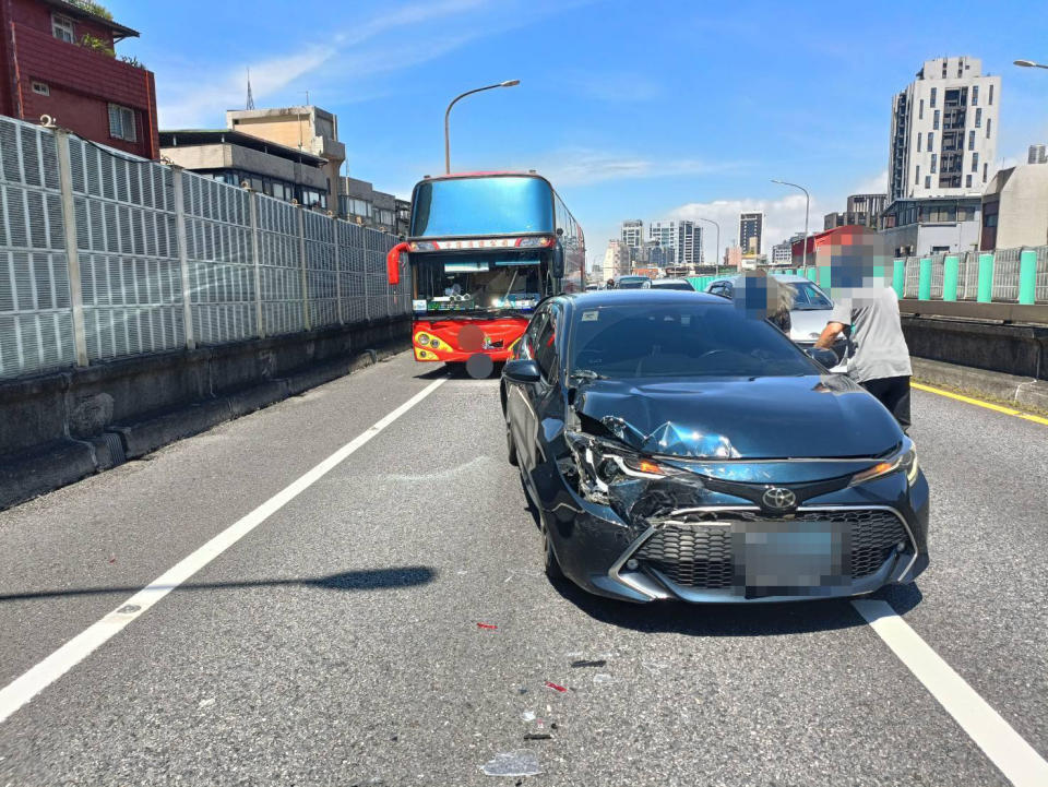
[[[888,601],[851,605],[1015,787],[1048,785],[1048,762],[957,675]]]

